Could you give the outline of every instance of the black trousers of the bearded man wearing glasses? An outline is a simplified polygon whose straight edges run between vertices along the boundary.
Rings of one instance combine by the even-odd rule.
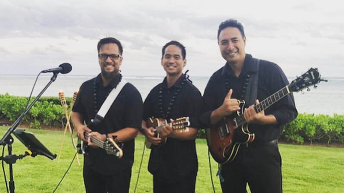
[[[129,192],[131,168],[103,175],[84,165],[84,184],[86,193],[126,193]]]

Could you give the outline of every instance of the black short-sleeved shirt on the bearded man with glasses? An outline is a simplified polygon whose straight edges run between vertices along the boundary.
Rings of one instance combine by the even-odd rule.
[[[119,75],[117,75],[106,87],[103,86],[101,75],[84,82],[79,90],[73,111],[83,115],[84,121],[89,123],[96,115],[94,102],[94,82],[96,82],[97,111],[104,103],[111,88],[117,86]],[[116,88],[114,88],[116,89]],[[100,134],[112,133],[123,128],[141,128],[142,120],[142,98],[139,91],[130,83],[127,83],[118,94],[117,99],[111,105],[104,120],[99,123],[94,131]],[[124,142],[123,157],[116,158],[108,155],[104,149],[88,148],[89,155],[85,155],[84,164],[89,165],[101,174],[116,174],[132,166],[134,161],[134,140]]]

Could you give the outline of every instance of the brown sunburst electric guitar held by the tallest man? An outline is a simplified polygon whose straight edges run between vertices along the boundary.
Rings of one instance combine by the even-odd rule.
[[[317,68],[311,68],[302,76],[293,80],[289,85],[281,88],[276,93],[268,98],[260,101],[255,105],[255,111],[259,113],[270,107],[275,102],[292,92],[299,92],[304,88],[310,91],[309,86],[314,85],[320,81],[326,81],[320,78],[320,73]],[[236,117],[225,117],[219,123],[206,129],[207,143],[210,153],[215,161],[220,164],[231,162],[238,153],[241,144],[251,143],[255,140],[255,134],[248,130],[248,124],[244,118],[244,100],[238,100],[240,110],[236,112]]]

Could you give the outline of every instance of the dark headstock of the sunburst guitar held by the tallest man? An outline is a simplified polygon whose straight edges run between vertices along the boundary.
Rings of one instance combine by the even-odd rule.
[[[321,79],[318,68],[310,68],[306,73],[302,74],[300,77],[297,77],[297,79],[293,80],[289,84],[289,91],[299,92],[304,88],[307,88],[309,91],[310,89],[308,87],[314,85],[316,88],[316,84],[318,84],[320,81],[327,82],[327,80]]]

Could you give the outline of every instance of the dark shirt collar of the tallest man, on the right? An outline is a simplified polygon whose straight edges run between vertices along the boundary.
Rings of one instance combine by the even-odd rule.
[[[239,77],[246,75],[248,72],[256,73],[258,71],[258,69],[257,69],[256,65],[254,65],[255,64],[254,62],[255,61],[253,60],[252,56],[250,54],[246,54],[244,66],[243,66],[243,69],[241,70]],[[222,72],[221,72],[221,76],[223,76],[225,74],[235,77],[233,70],[232,70],[232,68],[230,68],[228,62],[226,62],[225,66],[223,67]]]

